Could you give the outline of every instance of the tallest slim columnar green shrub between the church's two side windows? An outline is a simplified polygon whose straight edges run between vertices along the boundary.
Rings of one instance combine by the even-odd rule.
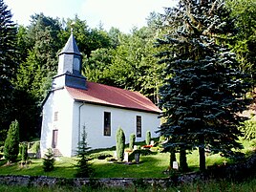
[[[125,148],[125,135],[123,130],[118,127],[117,129],[117,135],[116,135],[116,141],[117,141],[117,160],[123,160],[124,158],[124,148]]]

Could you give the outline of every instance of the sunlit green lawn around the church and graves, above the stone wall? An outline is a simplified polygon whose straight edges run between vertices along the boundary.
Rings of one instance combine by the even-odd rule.
[[[252,141],[243,140],[245,145],[244,152],[252,151]],[[101,150],[96,153],[114,154],[114,149]],[[179,155],[177,155],[179,160]],[[209,155],[206,157],[206,165],[223,164],[228,160],[219,155]],[[187,162],[191,171],[199,170],[199,154],[195,150],[187,155]],[[52,172],[44,172],[42,160],[32,159],[32,163],[26,167],[21,167],[19,163],[6,165],[5,160],[0,160],[0,175],[31,175],[31,176],[50,176],[61,178],[73,178],[75,174],[76,160],[74,158],[57,158]],[[117,163],[107,160],[92,160],[93,167],[96,169],[96,178],[165,178],[162,174],[169,166],[169,153],[156,153],[154,155],[140,156],[139,164]]]

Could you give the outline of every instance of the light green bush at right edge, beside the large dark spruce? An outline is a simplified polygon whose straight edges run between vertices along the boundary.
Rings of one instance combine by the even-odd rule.
[[[256,139],[256,120],[251,118],[245,120],[239,129],[244,133],[244,139]]]

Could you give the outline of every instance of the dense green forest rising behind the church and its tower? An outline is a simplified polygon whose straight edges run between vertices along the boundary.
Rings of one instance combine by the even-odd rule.
[[[220,43],[236,53],[239,62],[234,68],[249,75],[246,81],[252,84],[252,91],[256,79],[255,0],[225,2],[230,12],[222,16],[234,26],[229,26],[232,33],[224,33]],[[155,45],[157,39],[176,29],[166,22],[171,13],[171,8],[164,14],[152,12],[146,27],[130,33],[116,28],[106,32],[100,26],[92,29],[78,16],[58,19],[43,13],[32,15],[29,26],[19,26],[12,22],[8,5],[0,0],[0,146],[14,119],[20,124],[21,141],[40,137],[41,103],[51,88],[58,53],[72,23],[87,80],[138,91],[158,104],[166,66],[156,55],[169,46]]]

